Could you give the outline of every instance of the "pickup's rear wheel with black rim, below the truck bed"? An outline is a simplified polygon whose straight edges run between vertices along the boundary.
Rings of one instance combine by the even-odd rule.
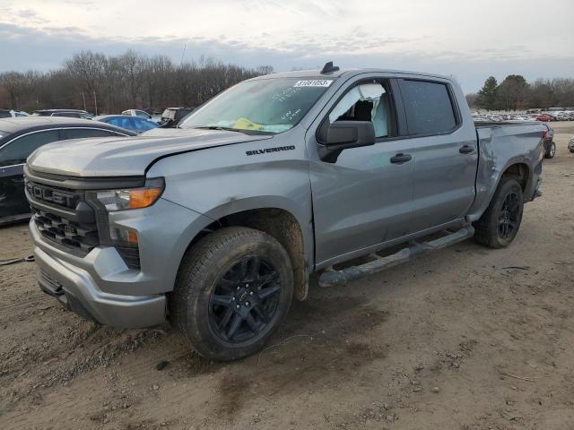
[[[510,245],[517,236],[523,211],[522,186],[516,179],[503,177],[488,209],[474,223],[474,239],[491,248]]]

